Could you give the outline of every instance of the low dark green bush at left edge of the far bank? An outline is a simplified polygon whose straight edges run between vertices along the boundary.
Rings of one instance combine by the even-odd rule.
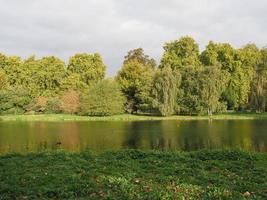
[[[23,114],[31,100],[22,88],[0,90],[0,114]]]

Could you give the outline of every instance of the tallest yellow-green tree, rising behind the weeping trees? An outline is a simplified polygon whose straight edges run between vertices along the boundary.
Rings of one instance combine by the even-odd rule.
[[[182,37],[164,46],[160,68],[171,68],[181,74],[181,86],[177,90],[176,112],[192,114],[198,112],[198,78],[201,70],[199,47],[191,37]]]

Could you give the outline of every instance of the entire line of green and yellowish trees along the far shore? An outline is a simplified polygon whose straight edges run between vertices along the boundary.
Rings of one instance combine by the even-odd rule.
[[[210,41],[204,51],[189,37],[168,42],[159,65],[142,48],[128,52],[105,79],[99,54],[22,60],[0,54],[0,113],[124,112],[195,115],[267,110],[267,48]]]

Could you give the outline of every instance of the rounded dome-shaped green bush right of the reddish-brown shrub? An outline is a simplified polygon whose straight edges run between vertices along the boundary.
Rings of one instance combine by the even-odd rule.
[[[112,79],[103,80],[83,94],[81,114],[89,116],[106,116],[124,112],[125,98],[119,85]]]

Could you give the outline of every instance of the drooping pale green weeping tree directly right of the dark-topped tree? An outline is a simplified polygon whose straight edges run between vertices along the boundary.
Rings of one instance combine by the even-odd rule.
[[[180,74],[170,67],[158,70],[153,84],[153,104],[162,116],[175,113],[177,91],[180,84]]]

